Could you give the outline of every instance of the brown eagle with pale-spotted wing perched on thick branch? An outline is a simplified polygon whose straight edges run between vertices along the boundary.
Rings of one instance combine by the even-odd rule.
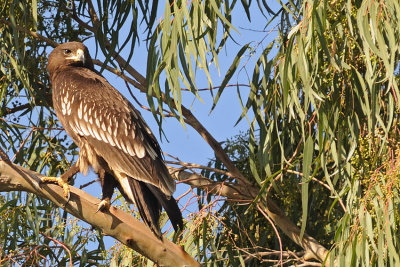
[[[69,178],[78,172],[86,175],[91,167],[102,186],[97,211],[109,209],[118,188],[160,239],[162,208],[175,231],[182,229],[182,214],[172,197],[175,181],[156,138],[139,111],[95,70],[88,48],[80,42],[57,46],[47,70],[55,113],[79,147],[79,157],[60,177],[42,181],[57,183],[69,199]]]

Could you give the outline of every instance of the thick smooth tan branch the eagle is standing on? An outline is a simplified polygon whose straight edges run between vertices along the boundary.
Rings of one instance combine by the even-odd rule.
[[[40,184],[40,176],[23,167],[0,161],[0,192],[27,191],[47,198],[159,266],[200,266],[180,246],[167,239],[159,240],[148,227],[124,211],[111,207],[108,212],[96,213],[99,200],[78,188],[71,186],[71,198],[66,204],[61,187]]]

